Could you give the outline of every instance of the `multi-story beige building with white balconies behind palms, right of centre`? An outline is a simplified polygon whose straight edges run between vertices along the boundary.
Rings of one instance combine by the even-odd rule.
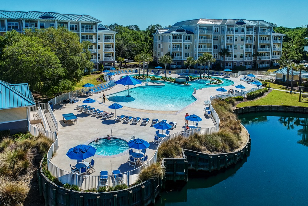
[[[154,61],[170,52],[172,68],[184,67],[187,57],[198,59],[210,53],[216,59],[213,66],[223,64],[218,53],[228,48],[225,68],[246,66],[252,68],[278,65],[282,51],[283,34],[273,31],[274,24],[262,20],[245,19],[194,19],[177,22],[172,27],[158,29],[154,36]],[[253,54],[258,54],[253,57]],[[199,65],[197,67],[200,68]]]

